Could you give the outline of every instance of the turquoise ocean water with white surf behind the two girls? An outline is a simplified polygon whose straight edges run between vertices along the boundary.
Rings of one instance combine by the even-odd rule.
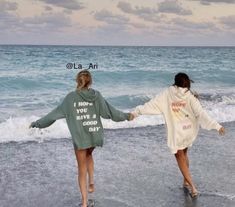
[[[0,142],[70,137],[65,120],[43,130],[32,121],[75,90],[76,74],[88,68],[93,88],[116,108],[131,111],[186,72],[202,105],[219,122],[235,121],[235,47],[0,46]],[[67,68],[69,67],[69,68]],[[132,122],[104,120],[104,127],[159,125],[161,116]]]

